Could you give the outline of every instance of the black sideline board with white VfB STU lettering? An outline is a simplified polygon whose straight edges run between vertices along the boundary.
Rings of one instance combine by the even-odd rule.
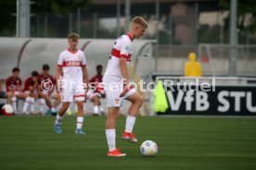
[[[163,81],[169,104],[168,110],[159,115],[256,115],[256,79],[158,79]]]

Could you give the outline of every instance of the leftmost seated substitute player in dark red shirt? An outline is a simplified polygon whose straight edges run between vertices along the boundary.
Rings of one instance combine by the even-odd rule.
[[[18,113],[17,98],[25,99],[27,95],[23,93],[21,89],[22,81],[19,78],[19,67],[12,69],[12,76],[6,79],[6,97],[7,103],[11,103],[14,109],[14,113]]]

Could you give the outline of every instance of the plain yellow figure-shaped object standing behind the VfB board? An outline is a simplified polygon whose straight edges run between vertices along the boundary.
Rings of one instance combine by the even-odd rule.
[[[201,64],[196,61],[197,55],[195,53],[190,53],[188,55],[189,61],[186,62],[185,66],[185,76],[186,77],[201,77]]]

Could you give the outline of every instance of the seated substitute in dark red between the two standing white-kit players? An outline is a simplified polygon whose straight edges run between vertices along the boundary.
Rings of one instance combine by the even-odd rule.
[[[104,87],[102,86],[102,69],[101,65],[96,66],[96,75],[89,80],[90,85],[92,85],[92,90],[86,92],[86,97],[94,103],[94,115],[99,115],[99,113],[104,113],[103,107],[100,103],[100,98],[105,97]]]

